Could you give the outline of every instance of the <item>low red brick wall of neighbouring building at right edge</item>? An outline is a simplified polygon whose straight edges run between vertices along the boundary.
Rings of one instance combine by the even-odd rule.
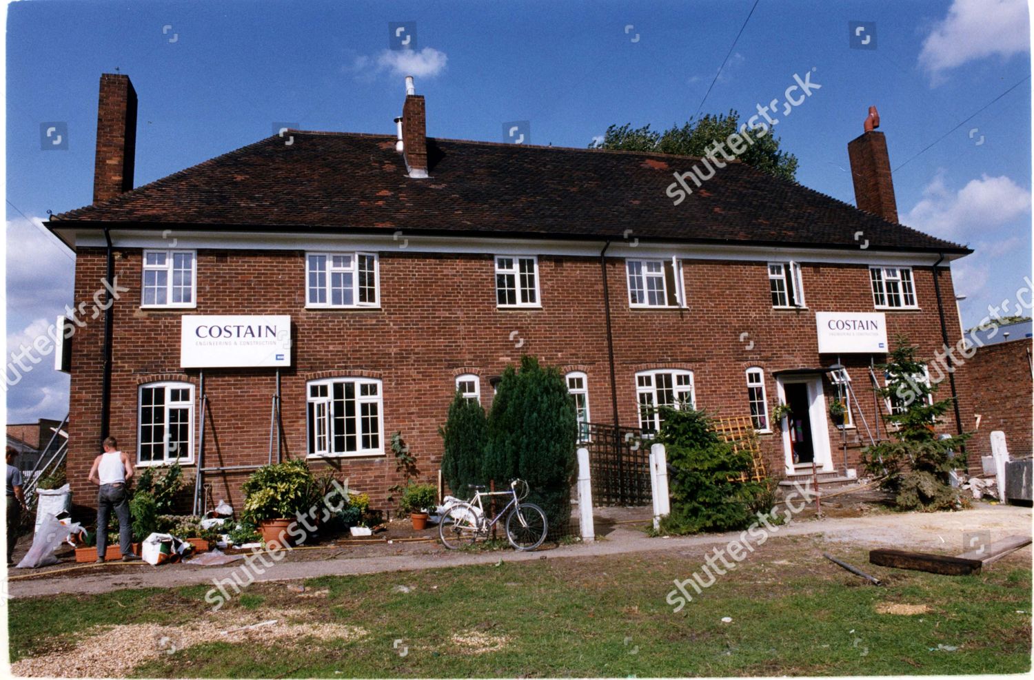
[[[986,345],[957,370],[966,383],[973,413],[980,415],[980,428],[970,439],[968,450],[979,465],[979,456],[991,455],[991,433],[1001,430],[1013,458],[1032,454],[1031,431],[1034,409],[1029,340],[1013,340]],[[966,424],[972,430],[974,421]]]

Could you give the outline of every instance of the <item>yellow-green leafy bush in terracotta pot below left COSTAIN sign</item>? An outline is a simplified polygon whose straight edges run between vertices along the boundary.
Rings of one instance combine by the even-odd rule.
[[[266,543],[275,540],[281,546],[287,545],[287,527],[297,521],[297,514],[307,514],[317,500],[315,477],[303,460],[265,465],[242,488],[242,519],[257,525]],[[294,543],[304,540],[292,538]]]

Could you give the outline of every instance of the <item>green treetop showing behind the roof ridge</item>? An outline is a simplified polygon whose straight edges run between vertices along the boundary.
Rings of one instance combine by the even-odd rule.
[[[756,125],[763,123],[756,121]],[[603,142],[594,142],[590,149],[616,149],[621,151],[651,151],[679,156],[706,156],[718,142],[724,143],[733,132],[739,132],[739,114],[729,110],[728,114],[707,114],[699,120],[690,120],[683,125],[672,125],[663,132],[650,129],[649,125],[633,128],[631,123],[611,125],[603,135]],[[767,124],[766,124],[767,127]],[[747,128],[754,144],[747,144],[747,150],[738,156],[747,165],[769,175],[795,181],[797,157],[780,150],[780,140],[772,136],[771,129],[763,135],[760,129]],[[726,152],[732,151],[726,146]],[[718,156],[722,158],[721,155]]]

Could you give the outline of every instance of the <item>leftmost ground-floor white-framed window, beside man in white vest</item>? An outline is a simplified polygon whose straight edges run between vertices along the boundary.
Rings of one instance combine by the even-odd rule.
[[[136,419],[136,464],[193,462],[193,385],[148,382],[140,385]]]

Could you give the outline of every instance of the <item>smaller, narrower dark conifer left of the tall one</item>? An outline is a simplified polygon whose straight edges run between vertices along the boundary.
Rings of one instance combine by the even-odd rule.
[[[442,474],[459,498],[468,498],[469,484],[487,484],[485,474],[485,410],[459,392],[449,405],[449,418],[438,429],[445,441]]]

